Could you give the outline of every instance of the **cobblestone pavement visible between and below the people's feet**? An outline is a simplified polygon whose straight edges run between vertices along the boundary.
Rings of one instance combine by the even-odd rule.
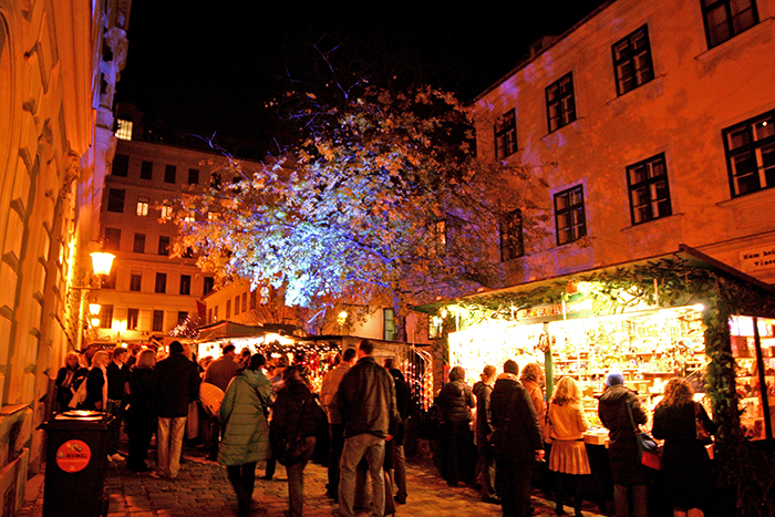
[[[153,454],[153,452],[152,452]],[[184,449],[185,463],[177,479],[157,479],[148,473],[134,474],[123,461],[107,464],[105,494],[110,500],[108,517],[230,517],[236,515],[237,502],[223,466],[208,462],[198,449]],[[254,493],[256,516],[283,516],[288,508],[288,483],[280,465],[273,480],[259,476]],[[27,500],[19,514],[23,517],[43,515],[43,474],[28,483]],[[310,463],[304,471],[304,516],[337,515],[337,504],[326,497],[327,472]],[[410,462],[407,465],[409,498],[397,506],[403,517],[465,517],[502,515],[500,507],[483,503],[479,494],[469,487],[451,488],[430,462]],[[534,493],[538,516],[554,516],[554,505]],[[572,509],[566,507],[572,515]],[[585,517],[600,517],[597,506],[585,503]],[[356,515],[365,516],[361,510]]]

